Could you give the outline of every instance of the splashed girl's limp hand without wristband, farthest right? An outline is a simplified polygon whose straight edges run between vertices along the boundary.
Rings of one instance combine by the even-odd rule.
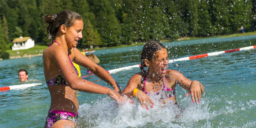
[[[198,81],[193,80],[185,96],[188,96],[189,93],[191,94],[193,103],[196,102],[197,104],[197,102],[200,102],[201,95],[204,93],[204,86]]]

